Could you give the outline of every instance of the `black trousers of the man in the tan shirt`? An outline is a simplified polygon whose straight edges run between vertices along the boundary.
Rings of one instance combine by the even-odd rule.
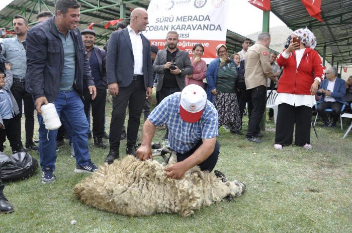
[[[252,138],[260,132],[259,124],[260,120],[265,112],[265,102],[267,97],[267,87],[258,86],[247,90],[247,101],[248,101],[248,130],[246,137]]]

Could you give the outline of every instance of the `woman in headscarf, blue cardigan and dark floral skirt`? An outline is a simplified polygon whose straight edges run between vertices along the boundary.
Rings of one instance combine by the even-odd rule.
[[[236,97],[237,65],[227,55],[227,47],[216,47],[218,59],[207,69],[207,95],[219,115],[219,127],[228,125],[231,133],[240,134],[241,118]]]

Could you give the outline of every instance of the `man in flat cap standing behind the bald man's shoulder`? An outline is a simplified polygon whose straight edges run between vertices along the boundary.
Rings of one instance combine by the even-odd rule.
[[[106,52],[103,49],[98,48],[94,45],[96,40],[96,33],[91,29],[83,29],[81,31],[82,41],[87,52],[89,63],[92,70],[92,77],[94,84],[97,88],[97,96],[94,100],[91,98],[89,89],[83,89],[83,104],[85,116],[89,117],[90,106],[92,106],[93,116],[93,138],[94,145],[100,148],[105,148],[103,142],[104,137],[104,118],[105,118],[105,100],[106,100],[106,88],[107,78],[105,69],[105,56]]]

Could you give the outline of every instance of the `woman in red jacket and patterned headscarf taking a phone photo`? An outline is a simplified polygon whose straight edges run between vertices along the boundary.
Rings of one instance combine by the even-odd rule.
[[[323,68],[319,54],[314,50],[316,39],[307,28],[291,35],[290,46],[277,58],[283,74],[278,85],[278,117],[275,149],[291,145],[294,126],[295,145],[312,149],[310,127],[315,93],[322,80]]]

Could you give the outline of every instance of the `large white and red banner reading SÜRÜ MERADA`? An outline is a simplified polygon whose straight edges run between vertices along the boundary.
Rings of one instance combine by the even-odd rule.
[[[202,58],[209,64],[217,57],[216,46],[226,41],[226,1],[230,0],[151,0],[143,35],[151,45],[164,49],[167,32],[176,31],[178,48],[191,55],[193,46],[202,44]]]

